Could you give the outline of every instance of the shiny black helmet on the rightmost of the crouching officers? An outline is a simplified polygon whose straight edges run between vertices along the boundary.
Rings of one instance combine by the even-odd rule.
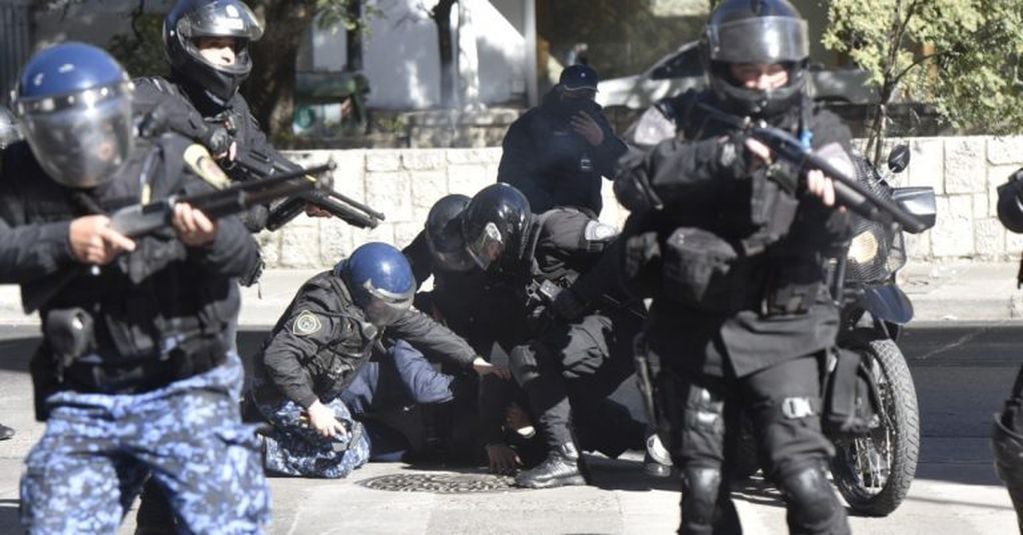
[[[465,250],[483,269],[499,265],[505,258],[518,260],[530,221],[529,200],[522,191],[503,183],[491,184],[476,193],[462,211]]]

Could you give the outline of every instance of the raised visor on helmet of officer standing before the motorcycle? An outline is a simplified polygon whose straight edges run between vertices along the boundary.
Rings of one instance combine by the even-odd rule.
[[[806,20],[757,16],[707,28],[710,59],[728,63],[801,61],[810,55]]]

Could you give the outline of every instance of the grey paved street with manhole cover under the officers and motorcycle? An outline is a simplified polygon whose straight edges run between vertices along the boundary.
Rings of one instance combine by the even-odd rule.
[[[0,533],[18,533],[20,460],[39,437],[32,419],[27,356],[37,342],[30,325],[0,327],[0,421],[18,435],[0,442]],[[251,354],[265,328],[243,330]],[[1013,533],[1014,515],[991,469],[990,415],[1021,360],[1023,324],[918,323],[903,348],[920,397],[923,447],[917,480],[889,518],[853,518],[856,533]],[[622,395],[620,393],[620,395]],[[625,393],[633,409],[634,399]],[[389,492],[359,485],[398,474],[450,472],[405,464],[370,464],[347,481],[273,479],[275,534],[307,533],[671,533],[677,523],[673,484],[637,474],[633,460],[595,459],[592,487],[476,494]],[[473,472],[472,469],[455,469]],[[785,533],[785,510],[762,482],[738,489],[746,532]],[[123,533],[131,533],[131,519]]]

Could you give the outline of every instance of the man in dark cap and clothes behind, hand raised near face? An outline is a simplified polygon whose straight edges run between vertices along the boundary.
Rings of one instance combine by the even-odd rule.
[[[533,213],[573,207],[601,215],[601,177],[614,175],[625,144],[615,136],[596,94],[596,72],[571,65],[543,102],[508,128],[497,181],[526,195]]]

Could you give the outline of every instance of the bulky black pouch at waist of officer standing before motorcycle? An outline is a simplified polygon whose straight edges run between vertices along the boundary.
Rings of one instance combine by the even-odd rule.
[[[663,293],[704,310],[727,312],[743,305],[739,254],[727,241],[700,228],[676,229],[664,252]]]

